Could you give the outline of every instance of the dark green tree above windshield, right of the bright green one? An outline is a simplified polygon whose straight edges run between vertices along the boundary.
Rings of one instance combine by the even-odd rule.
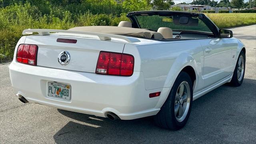
[[[168,10],[174,4],[173,0],[147,0],[154,10]]]

